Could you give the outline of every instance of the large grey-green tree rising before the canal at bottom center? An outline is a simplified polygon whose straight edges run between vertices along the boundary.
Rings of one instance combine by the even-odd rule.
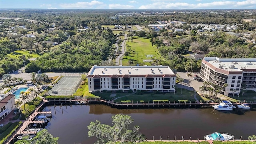
[[[131,116],[117,114],[112,116],[113,126],[101,124],[100,121],[91,122],[88,126],[88,136],[95,136],[98,138],[97,143],[116,143],[118,140],[129,142],[140,142],[144,140],[142,134],[138,134],[139,126],[134,126],[132,130],[129,130],[129,124],[133,122]]]

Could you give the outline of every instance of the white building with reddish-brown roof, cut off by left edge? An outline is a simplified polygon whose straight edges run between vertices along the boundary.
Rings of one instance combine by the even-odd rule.
[[[0,120],[14,110],[14,94],[0,94]]]

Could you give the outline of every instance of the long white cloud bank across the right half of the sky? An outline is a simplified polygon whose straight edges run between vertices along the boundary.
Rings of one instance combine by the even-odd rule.
[[[198,0],[197,0],[198,1]],[[256,4],[256,0],[244,1],[215,1],[209,3],[189,4],[186,2],[169,3],[158,1],[152,4],[142,5],[139,9],[204,9],[204,8],[249,8]]]

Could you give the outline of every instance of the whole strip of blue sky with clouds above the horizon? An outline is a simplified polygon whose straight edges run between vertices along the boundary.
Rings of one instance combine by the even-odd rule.
[[[1,8],[256,9],[256,0],[0,0]]]

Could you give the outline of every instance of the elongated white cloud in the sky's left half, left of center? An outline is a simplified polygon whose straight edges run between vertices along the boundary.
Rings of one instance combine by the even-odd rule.
[[[101,4],[104,4],[104,3],[93,0],[91,2],[76,2],[72,4],[60,4],[60,7],[62,8],[94,8],[94,6],[98,6]]]

